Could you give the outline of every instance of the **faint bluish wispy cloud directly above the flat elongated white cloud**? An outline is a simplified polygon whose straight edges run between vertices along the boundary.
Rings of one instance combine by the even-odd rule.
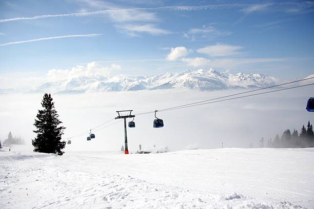
[[[192,28],[188,32],[183,33],[183,37],[191,38],[191,40],[205,38],[205,39],[212,39],[219,36],[230,35],[231,33],[228,31],[219,31],[213,26],[206,26],[203,25],[202,28]]]

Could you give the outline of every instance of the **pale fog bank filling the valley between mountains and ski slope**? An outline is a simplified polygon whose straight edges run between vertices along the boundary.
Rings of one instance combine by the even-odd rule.
[[[135,92],[105,92],[93,94],[52,95],[55,108],[66,127],[64,140],[114,118],[117,110],[134,110],[134,113],[184,105],[204,99],[225,96],[243,90],[196,91],[159,90]],[[136,128],[128,128],[129,150],[138,150],[139,144],[168,146],[169,150],[182,150],[190,144],[198,148],[248,147],[258,144],[261,137],[268,140],[285,129],[298,131],[301,124],[314,121],[314,114],[305,110],[307,99],[314,96],[313,88],[305,87],[248,98],[222,101],[203,106],[159,112],[164,128],[153,128],[153,114],[135,117]],[[0,140],[9,133],[22,136],[27,143],[35,136],[34,119],[41,109],[43,94],[0,95]],[[116,122],[112,120],[107,123]],[[105,125],[105,126],[106,126]],[[101,128],[101,127],[100,127]],[[95,139],[86,136],[72,138],[65,152],[101,151],[121,149],[124,144],[123,120],[94,133]]]

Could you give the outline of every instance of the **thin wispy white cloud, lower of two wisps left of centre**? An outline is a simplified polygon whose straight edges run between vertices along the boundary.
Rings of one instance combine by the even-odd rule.
[[[157,28],[153,24],[144,24],[144,25],[136,25],[136,24],[125,24],[118,25],[117,28],[121,29],[121,32],[127,33],[129,36],[139,36],[139,33],[149,33],[151,35],[165,35],[170,34],[170,31]]]

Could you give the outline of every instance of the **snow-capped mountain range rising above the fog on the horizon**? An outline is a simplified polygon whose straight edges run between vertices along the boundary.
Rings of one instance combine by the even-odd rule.
[[[278,78],[263,74],[231,74],[215,70],[184,71],[151,76],[81,76],[57,82],[46,82],[31,92],[83,93],[105,91],[136,91],[171,88],[222,90],[260,88],[276,85]]]

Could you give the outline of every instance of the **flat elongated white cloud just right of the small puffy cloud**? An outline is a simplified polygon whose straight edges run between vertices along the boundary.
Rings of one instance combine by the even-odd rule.
[[[232,46],[232,45],[225,45],[225,44],[216,44],[207,46],[201,49],[198,49],[197,52],[202,54],[207,54],[212,57],[218,56],[232,56],[240,54],[238,50],[242,49],[241,46]]]

